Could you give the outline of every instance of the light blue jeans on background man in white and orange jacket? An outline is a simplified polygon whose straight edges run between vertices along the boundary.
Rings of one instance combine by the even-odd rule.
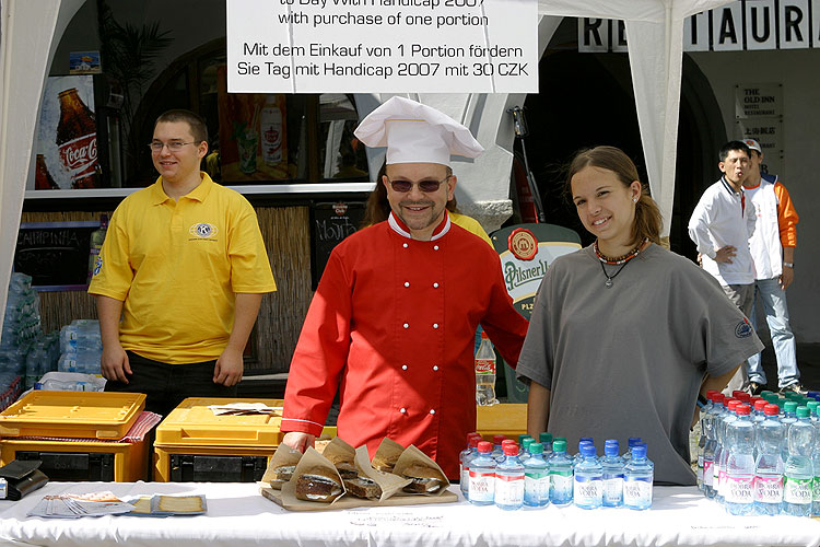
[[[797,344],[792,326],[788,324],[788,307],[786,305],[786,291],[781,289],[778,278],[759,279],[754,281],[754,309],[749,318],[757,330],[757,306],[763,305],[766,315],[769,333],[772,336],[774,354],[777,358],[777,386],[786,387],[800,380],[800,371],[797,370]],[[752,356],[747,361],[749,366],[749,382],[760,385],[766,383],[766,374],[760,362],[760,353]]]

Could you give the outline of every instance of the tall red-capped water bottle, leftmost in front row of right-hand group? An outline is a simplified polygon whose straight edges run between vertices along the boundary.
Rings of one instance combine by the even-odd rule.
[[[737,407],[737,420],[726,429],[726,511],[750,514],[754,507],[754,424],[749,405]]]

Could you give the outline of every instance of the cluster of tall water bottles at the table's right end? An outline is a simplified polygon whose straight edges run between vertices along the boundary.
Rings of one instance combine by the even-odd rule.
[[[740,393],[708,394],[699,487],[731,514],[820,515],[820,393]]]

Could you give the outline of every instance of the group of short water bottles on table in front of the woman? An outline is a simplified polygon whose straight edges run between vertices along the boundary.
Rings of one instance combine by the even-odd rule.
[[[541,433],[538,441],[522,435],[519,449],[503,435],[494,437],[493,445],[470,433],[460,454],[461,492],[470,503],[495,503],[503,510],[550,503],[582,509],[652,505],[654,464],[640,439],[630,439],[624,455],[619,454],[617,440],[608,440],[602,457],[588,438],[581,440],[574,457],[566,454],[566,439]]]

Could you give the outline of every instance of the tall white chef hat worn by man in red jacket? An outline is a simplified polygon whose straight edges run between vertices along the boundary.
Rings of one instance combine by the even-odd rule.
[[[354,131],[371,148],[387,147],[387,164],[440,163],[450,154],[476,158],[484,149],[465,126],[427,105],[394,96]]]

